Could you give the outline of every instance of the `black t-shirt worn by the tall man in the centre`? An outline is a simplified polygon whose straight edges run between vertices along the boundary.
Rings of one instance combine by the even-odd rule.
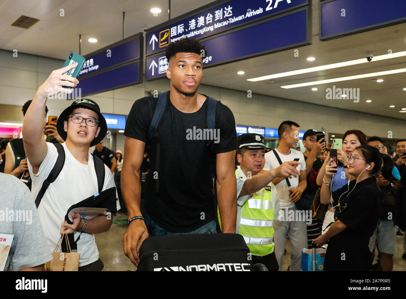
[[[207,96],[202,107],[194,113],[183,113],[176,109],[169,100],[169,92],[167,100],[168,104],[156,129],[160,144],[158,172],[156,147],[147,149],[150,172],[145,199],[147,214],[160,227],[166,231],[182,233],[193,231],[214,220],[211,175],[213,156],[237,149],[237,133],[233,113],[218,102],[213,154],[207,146],[207,140],[198,140],[202,137],[199,135],[200,130],[207,129]],[[134,102],[124,135],[148,145],[148,129],[157,101],[158,98],[148,96]],[[158,194],[155,192],[154,180],[157,176]]]

